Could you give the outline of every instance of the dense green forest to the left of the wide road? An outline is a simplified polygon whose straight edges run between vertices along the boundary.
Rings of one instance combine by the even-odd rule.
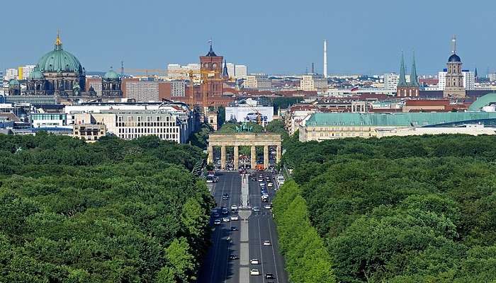
[[[195,146],[0,135],[0,282],[192,282],[214,200]]]

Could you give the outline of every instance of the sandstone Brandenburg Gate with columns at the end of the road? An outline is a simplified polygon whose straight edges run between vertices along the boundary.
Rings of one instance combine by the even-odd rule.
[[[257,166],[256,146],[264,146],[264,168],[269,166],[269,146],[276,147],[276,163],[281,161],[281,134],[255,134],[243,132],[237,134],[209,134],[208,135],[208,160],[207,163],[213,163],[213,146],[220,146],[220,168],[225,169],[226,146],[234,147],[235,170],[239,163],[239,146],[251,146],[250,161],[252,169]]]

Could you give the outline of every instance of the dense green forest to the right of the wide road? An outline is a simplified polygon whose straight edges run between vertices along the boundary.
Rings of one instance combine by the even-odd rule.
[[[337,282],[496,280],[495,137],[296,135],[284,146],[295,183],[274,201],[281,241],[308,238],[309,229],[283,234],[286,219],[307,217]],[[285,256],[291,276],[297,267]]]

